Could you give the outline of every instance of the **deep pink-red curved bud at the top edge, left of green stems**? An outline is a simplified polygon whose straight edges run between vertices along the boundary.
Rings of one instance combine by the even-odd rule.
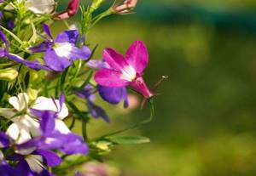
[[[70,0],[67,9],[60,14],[54,14],[53,18],[55,20],[64,20],[72,17],[78,13],[80,0]]]

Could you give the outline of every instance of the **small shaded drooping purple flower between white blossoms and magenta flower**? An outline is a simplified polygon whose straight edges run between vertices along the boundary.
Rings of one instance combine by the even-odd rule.
[[[106,122],[109,122],[109,116],[106,113],[105,110],[102,109],[102,107],[96,105],[94,103],[95,100],[95,94],[94,94],[94,88],[87,84],[83,90],[80,90],[77,94],[80,98],[86,99],[87,107],[90,111],[91,116],[99,118],[102,117]]]

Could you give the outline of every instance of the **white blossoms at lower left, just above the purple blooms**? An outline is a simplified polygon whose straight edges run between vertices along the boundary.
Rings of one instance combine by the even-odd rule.
[[[0,115],[9,118],[13,123],[7,129],[7,134],[14,139],[17,144],[21,144],[40,134],[38,118],[30,114],[28,108],[40,111],[55,111],[55,130],[60,133],[70,133],[66,124],[62,121],[68,116],[67,106],[65,104],[60,107],[58,99],[49,99],[46,97],[38,97],[29,105],[30,98],[26,93],[20,93],[18,96],[9,98],[9,104],[15,109],[0,109]],[[16,111],[16,112],[15,112]],[[15,116],[16,113],[24,111],[22,115]]]

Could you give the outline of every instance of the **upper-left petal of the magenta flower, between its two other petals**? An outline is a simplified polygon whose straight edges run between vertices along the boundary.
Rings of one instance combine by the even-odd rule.
[[[117,53],[112,48],[106,48],[103,51],[103,59],[107,61],[113,70],[121,71],[128,65],[123,55]]]

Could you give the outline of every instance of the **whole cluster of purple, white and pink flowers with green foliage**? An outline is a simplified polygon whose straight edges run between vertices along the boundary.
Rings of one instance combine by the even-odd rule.
[[[111,121],[97,96],[112,105],[123,101],[125,108],[127,88],[144,99],[154,96],[143,79],[148,50],[142,41],[132,43],[125,56],[105,48],[101,60],[92,60],[95,48],[87,43],[88,31],[104,17],[127,14],[137,5],[115,3],[95,15],[103,3],[93,0],[84,8],[70,0],[66,10],[56,12],[55,0],[0,1],[0,175],[74,175],[67,169],[73,163],[98,160],[120,141],[129,143],[131,138],[114,137],[124,130],[96,139],[86,131],[91,119]],[[66,19],[79,6],[81,20],[69,26]],[[65,21],[67,29],[53,35],[56,20]],[[83,137],[73,133],[75,126]]]

